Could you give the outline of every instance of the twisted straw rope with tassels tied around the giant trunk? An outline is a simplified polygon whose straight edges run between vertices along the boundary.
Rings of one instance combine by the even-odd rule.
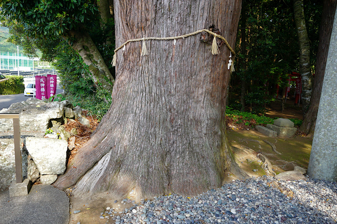
[[[232,47],[230,46],[230,44],[228,43],[228,41],[225,39],[225,37],[222,37],[221,35],[218,35],[216,33],[211,32],[210,30],[207,29],[203,29],[203,30],[198,30],[195,31],[193,33],[189,33],[189,34],[185,34],[185,35],[181,35],[181,36],[176,36],[176,37],[143,37],[143,38],[137,38],[137,39],[129,39],[127,40],[125,43],[123,43],[121,46],[119,46],[118,48],[116,48],[114,50],[115,54],[113,55],[113,59],[112,59],[112,66],[116,66],[116,61],[117,61],[117,51],[120,50],[121,48],[123,48],[123,50],[125,49],[125,45],[129,42],[136,42],[136,41],[143,41],[143,46],[142,46],[142,52],[141,52],[141,56],[146,56],[147,55],[147,48],[146,48],[146,44],[145,44],[145,40],[176,40],[176,39],[180,39],[180,38],[185,38],[185,37],[190,37],[193,35],[197,35],[201,32],[207,32],[211,35],[214,36],[213,38],[213,42],[212,42],[212,46],[211,46],[211,54],[212,55],[218,55],[220,53],[218,45],[216,43],[216,37],[222,39],[226,46],[230,49],[231,51],[231,56],[230,56],[230,60],[229,60],[229,66],[231,67],[231,71],[234,71],[234,65],[232,63],[232,55],[235,56],[235,52],[232,49]]]

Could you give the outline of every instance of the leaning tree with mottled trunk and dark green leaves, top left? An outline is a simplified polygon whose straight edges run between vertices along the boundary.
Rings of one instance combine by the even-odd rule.
[[[3,0],[0,2],[2,20],[12,23],[13,30],[21,32],[16,39],[22,45],[52,50],[65,39],[79,53],[87,65],[96,86],[112,91],[114,78],[89,30],[99,23],[97,2],[93,0]],[[25,40],[22,37],[25,35]],[[52,47],[48,47],[52,44]],[[48,52],[49,53],[49,52]],[[47,55],[47,54],[46,54]]]

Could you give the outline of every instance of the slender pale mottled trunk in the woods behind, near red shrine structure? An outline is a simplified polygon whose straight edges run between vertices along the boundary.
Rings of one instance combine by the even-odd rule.
[[[299,73],[302,77],[302,107],[305,114],[309,108],[312,92],[312,74],[310,69],[310,44],[305,26],[303,0],[294,0],[294,16],[299,43]]]

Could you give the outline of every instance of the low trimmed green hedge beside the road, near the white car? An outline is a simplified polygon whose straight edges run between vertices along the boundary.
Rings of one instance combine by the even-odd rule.
[[[6,78],[8,78],[8,80],[0,81],[0,94],[9,95],[23,93],[23,76],[7,75]]]

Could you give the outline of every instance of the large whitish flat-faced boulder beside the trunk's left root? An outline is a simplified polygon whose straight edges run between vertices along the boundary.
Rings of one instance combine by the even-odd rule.
[[[42,175],[63,174],[68,147],[67,141],[26,137],[25,146]]]

